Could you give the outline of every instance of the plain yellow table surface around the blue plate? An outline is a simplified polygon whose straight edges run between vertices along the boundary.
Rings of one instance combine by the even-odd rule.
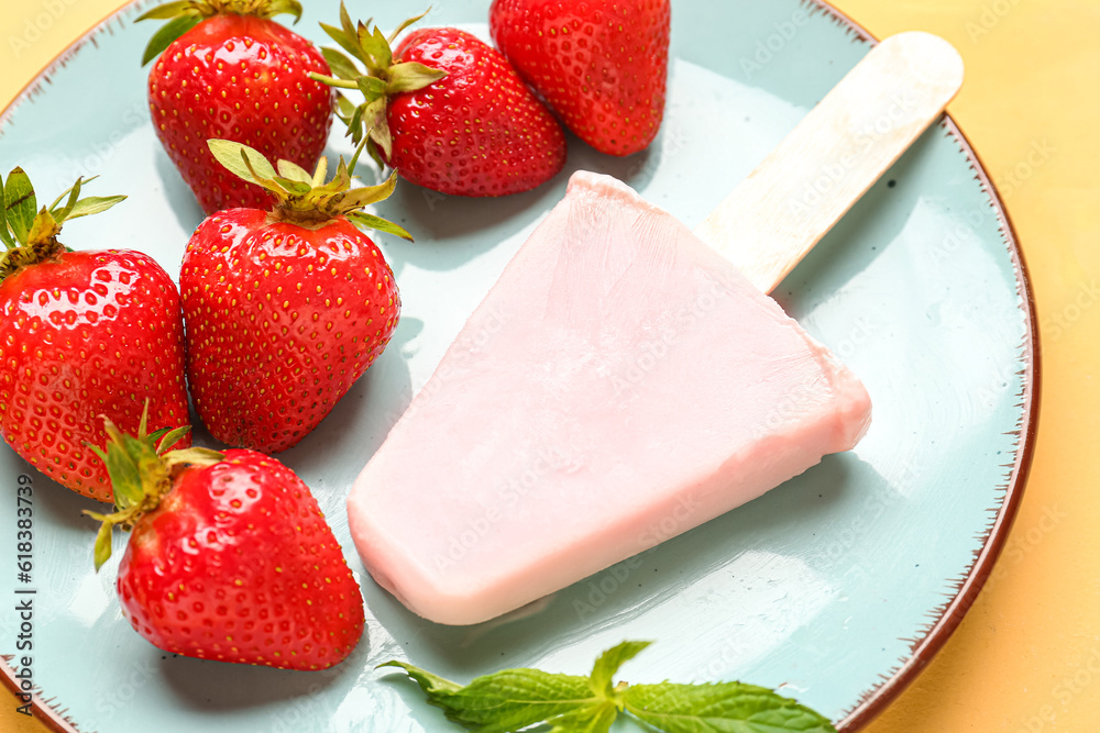
[[[3,0],[0,107],[121,4]],[[963,54],[949,110],[1015,223],[1043,343],[1035,460],[1007,549],[944,649],[867,731],[1100,731],[1100,2],[834,4],[876,37],[930,31]],[[1040,165],[1035,146],[1048,153]],[[14,707],[0,692],[0,730],[43,730]]]

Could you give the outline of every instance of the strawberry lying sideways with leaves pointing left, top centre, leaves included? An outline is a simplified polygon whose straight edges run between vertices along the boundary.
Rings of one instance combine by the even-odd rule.
[[[403,177],[443,193],[504,196],[561,170],[561,125],[495,48],[440,27],[410,33],[391,53],[396,33],[354,29],[342,7],[341,15],[342,29],[323,27],[369,74],[359,76],[351,59],[326,48],[341,78],[314,78],[365,90],[358,109],[340,100],[340,116],[356,143],[369,138]]]

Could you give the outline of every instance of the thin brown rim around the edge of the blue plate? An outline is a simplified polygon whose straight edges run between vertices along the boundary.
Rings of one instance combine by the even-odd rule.
[[[50,59],[12,98],[12,101],[3,110],[0,110],[0,129],[24,102],[40,92],[43,85],[50,82],[51,74],[63,68],[85,45],[91,43],[98,47],[96,37],[103,32],[113,34],[112,23],[116,21],[124,22],[123,15],[154,2],[156,0],[132,0],[124,3],[95,23],[87,32]],[[811,13],[821,12],[827,15],[834,23],[855,36],[854,42],[865,43],[871,47],[880,42],[880,38],[853,20],[847,13],[834,7],[828,0],[799,0],[799,2],[807,5]],[[928,624],[920,637],[906,640],[910,642],[909,657],[900,659],[888,675],[883,675],[877,685],[865,690],[857,702],[843,713],[840,721],[835,724],[838,733],[856,733],[882,713],[928,666],[961,624],[1004,549],[1012,524],[1019,513],[1020,503],[1023,500],[1035,453],[1042,391],[1042,351],[1035,320],[1037,312],[1035,296],[1027,264],[1020,246],[1020,237],[997,184],[993,182],[981,156],[952,113],[945,110],[941,119],[933,124],[943,127],[947,135],[955,140],[960,153],[969,162],[975,178],[993,208],[1002,243],[1013,265],[1016,293],[1021,299],[1020,310],[1023,311],[1024,325],[1026,326],[1020,353],[1020,358],[1025,364],[1022,371],[1018,373],[1021,376],[1022,387],[1019,396],[1022,410],[1021,420],[1014,431],[1018,444],[1012,462],[1012,471],[1003,487],[1004,495],[1000,500],[1000,507],[989,522],[983,536],[980,537],[981,547],[975,551],[974,562],[966,570],[966,575],[957,581],[954,595],[945,595],[944,602],[936,609],[935,620]],[[14,669],[8,664],[8,660],[0,656],[0,682],[12,695],[20,692],[14,674]],[[61,707],[61,702],[56,698],[42,698],[42,693],[43,690],[35,687],[31,702],[33,717],[54,733],[80,733],[78,724],[76,721],[69,720],[67,711]],[[55,703],[58,707],[54,707]]]

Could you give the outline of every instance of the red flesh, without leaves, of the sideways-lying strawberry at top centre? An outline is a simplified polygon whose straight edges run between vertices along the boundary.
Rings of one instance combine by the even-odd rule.
[[[455,29],[421,29],[394,57],[448,74],[389,101],[388,163],[403,177],[442,193],[504,196],[561,170],[561,125],[495,48]]]

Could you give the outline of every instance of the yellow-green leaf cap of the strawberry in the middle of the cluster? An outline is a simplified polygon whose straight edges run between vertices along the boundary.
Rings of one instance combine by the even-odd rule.
[[[317,170],[309,174],[288,160],[279,160],[276,169],[267,158],[248,145],[228,140],[211,140],[208,144],[213,157],[230,173],[262,186],[275,196],[278,203],[273,215],[299,224],[321,224],[345,216],[361,229],[373,229],[413,241],[402,226],[363,211],[389,198],[397,186],[396,174],[377,186],[352,188],[351,174],[343,158],[332,180],[326,184],[328,160],[323,157]]]

